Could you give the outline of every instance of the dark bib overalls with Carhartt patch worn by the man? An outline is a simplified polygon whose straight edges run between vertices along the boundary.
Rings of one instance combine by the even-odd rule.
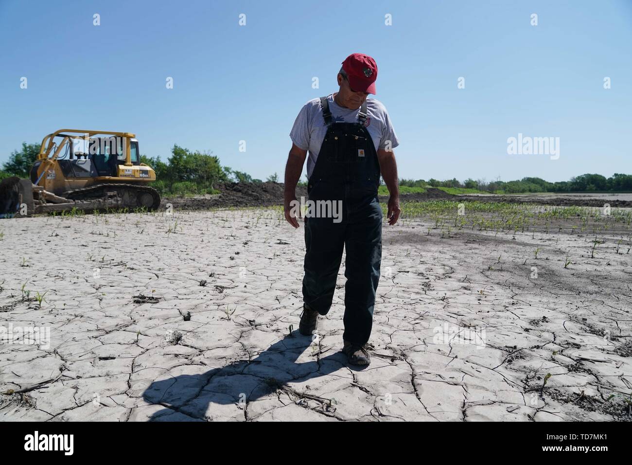
[[[310,201],[342,201],[342,220],[305,218],[303,301],[325,315],[346,249],[344,334],[364,345],[370,336],[382,259],[382,208],[377,197],[380,164],[367,128],[367,102],[357,123],[333,122],[327,97],[320,99],[327,134],[307,183]]]

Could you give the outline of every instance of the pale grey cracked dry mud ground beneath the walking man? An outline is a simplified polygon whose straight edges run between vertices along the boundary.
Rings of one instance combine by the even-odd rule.
[[[354,369],[344,258],[319,337],[301,336],[304,229],[277,210],[3,221],[0,325],[50,341],[0,342],[0,419],[629,420],[619,235],[591,258],[588,234],[428,225],[384,225],[374,356]]]

